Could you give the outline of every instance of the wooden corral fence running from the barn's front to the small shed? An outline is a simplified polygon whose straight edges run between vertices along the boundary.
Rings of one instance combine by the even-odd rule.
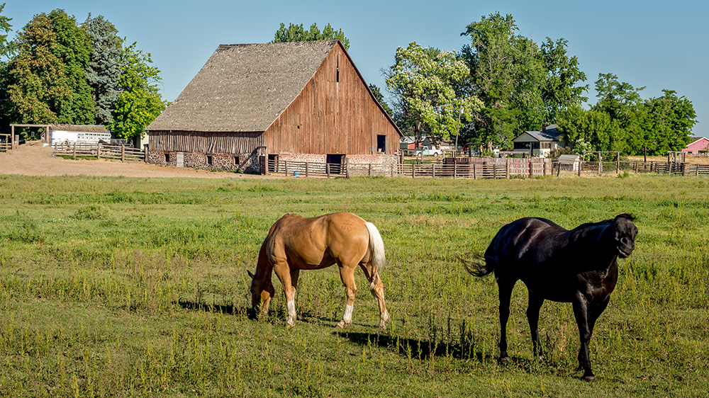
[[[483,159],[483,160],[479,160]],[[350,178],[387,176],[411,178],[510,178],[551,175],[550,159],[445,158],[432,163],[333,164],[308,161],[268,160],[269,174],[295,177]]]

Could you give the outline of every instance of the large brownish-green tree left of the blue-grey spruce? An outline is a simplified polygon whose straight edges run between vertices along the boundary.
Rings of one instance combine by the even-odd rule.
[[[8,64],[9,113],[20,123],[95,123],[84,72],[91,40],[73,16],[40,13],[18,33]]]

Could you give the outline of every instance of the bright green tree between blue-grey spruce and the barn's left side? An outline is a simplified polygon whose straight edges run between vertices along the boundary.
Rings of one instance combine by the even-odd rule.
[[[167,108],[157,87],[160,69],[151,65],[150,53],[137,50],[135,44],[123,50],[121,93],[112,111],[111,131],[125,139],[143,134],[145,127]]]

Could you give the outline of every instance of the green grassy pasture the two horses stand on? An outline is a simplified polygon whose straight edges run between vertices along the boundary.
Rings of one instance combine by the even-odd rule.
[[[460,181],[0,176],[0,395],[13,397],[706,397],[709,180]],[[247,270],[285,212],[379,227],[393,322],[357,271],[354,324],[336,267],[304,271],[294,329],[280,283],[250,319]],[[506,222],[571,228],[635,215],[637,249],[579,380],[571,305],[546,302],[532,358],[526,289],[498,364],[497,290],[458,256]]]

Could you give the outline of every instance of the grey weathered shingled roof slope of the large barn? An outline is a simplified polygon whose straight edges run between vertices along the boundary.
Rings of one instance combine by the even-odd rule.
[[[220,45],[147,130],[265,131],[335,45],[337,40]]]

